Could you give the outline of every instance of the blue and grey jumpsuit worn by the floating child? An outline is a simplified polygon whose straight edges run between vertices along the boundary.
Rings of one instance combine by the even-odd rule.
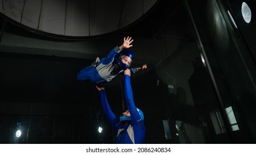
[[[101,59],[96,66],[86,66],[84,69],[80,70],[77,75],[78,80],[89,80],[97,86],[103,87],[106,82],[112,80],[117,74],[124,71],[114,61],[115,55],[120,51],[121,49],[116,46],[105,58]],[[133,74],[137,71],[136,68],[129,69]]]

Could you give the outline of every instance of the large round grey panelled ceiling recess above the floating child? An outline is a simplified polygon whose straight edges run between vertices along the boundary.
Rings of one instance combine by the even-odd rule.
[[[157,0],[0,0],[0,12],[29,28],[70,37],[115,32],[135,22]],[[11,21],[12,22],[12,21]]]

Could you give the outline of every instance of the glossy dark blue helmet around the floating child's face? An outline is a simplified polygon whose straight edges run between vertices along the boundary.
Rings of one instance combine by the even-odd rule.
[[[124,56],[129,56],[129,58],[131,58],[131,63],[132,63],[132,60],[134,60],[134,54],[129,49],[123,49],[120,51],[119,54],[116,54],[115,60],[117,64],[122,68],[122,70],[126,70],[131,65],[131,63],[129,65],[122,63],[121,59]]]

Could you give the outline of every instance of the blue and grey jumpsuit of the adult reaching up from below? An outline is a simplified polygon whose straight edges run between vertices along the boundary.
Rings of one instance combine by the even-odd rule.
[[[100,90],[101,104],[107,119],[117,131],[117,144],[143,144],[145,143],[145,125],[134,104],[130,76],[125,75],[125,100],[131,114],[131,123],[124,124],[117,119],[111,111],[106,99],[105,90]]]

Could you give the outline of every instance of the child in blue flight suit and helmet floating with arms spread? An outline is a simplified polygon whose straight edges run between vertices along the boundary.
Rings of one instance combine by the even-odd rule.
[[[112,49],[105,58],[101,60],[97,58],[91,66],[80,70],[77,75],[78,80],[89,80],[97,86],[103,87],[106,82],[130,67],[134,55],[128,48],[132,46],[133,41],[134,39],[131,37],[124,37],[124,43]],[[145,64],[141,68],[130,68],[130,70],[132,73],[136,73],[136,71],[146,68]]]

